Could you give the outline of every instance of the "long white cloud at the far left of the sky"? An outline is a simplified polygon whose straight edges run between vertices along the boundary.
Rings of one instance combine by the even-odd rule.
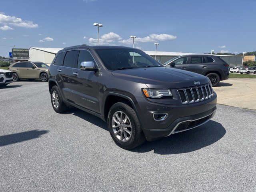
[[[34,24],[33,21],[22,20],[21,18],[15,16],[9,16],[5,14],[0,14],[0,23],[9,24],[24,28],[37,28],[38,24]]]

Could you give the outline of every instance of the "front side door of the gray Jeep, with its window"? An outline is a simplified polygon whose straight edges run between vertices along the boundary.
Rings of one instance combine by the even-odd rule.
[[[72,73],[74,102],[79,106],[99,113],[99,72],[80,70],[80,64],[84,61],[92,61],[97,66],[88,50],[79,51],[78,62]]]

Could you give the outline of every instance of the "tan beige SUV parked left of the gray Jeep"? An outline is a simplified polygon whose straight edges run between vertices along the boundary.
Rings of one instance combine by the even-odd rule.
[[[49,78],[49,66],[43,62],[16,62],[8,67],[12,71],[14,81],[19,79],[41,79],[47,82]]]

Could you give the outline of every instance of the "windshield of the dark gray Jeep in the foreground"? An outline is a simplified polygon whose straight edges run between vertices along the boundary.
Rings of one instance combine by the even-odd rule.
[[[109,70],[123,70],[143,67],[162,67],[154,58],[134,49],[96,49],[97,54]]]

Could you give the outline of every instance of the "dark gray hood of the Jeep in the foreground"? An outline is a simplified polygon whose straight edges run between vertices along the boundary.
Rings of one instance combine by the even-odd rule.
[[[210,82],[206,76],[169,67],[116,70],[112,71],[112,75],[146,84],[148,88],[184,88]]]

